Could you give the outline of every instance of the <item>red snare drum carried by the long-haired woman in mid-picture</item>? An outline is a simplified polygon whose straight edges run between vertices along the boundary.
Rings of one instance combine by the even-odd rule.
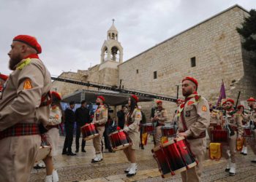
[[[126,149],[131,144],[129,137],[127,136],[127,133],[124,132],[124,130],[112,132],[110,135],[108,135],[108,137],[110,138],[113,151]]]

